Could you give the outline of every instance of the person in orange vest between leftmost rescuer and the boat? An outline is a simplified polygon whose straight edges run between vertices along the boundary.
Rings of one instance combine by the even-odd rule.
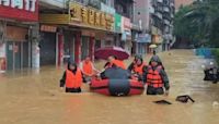
[[[94,67],[93,62],[89,55],[85,57],[85,59],[80,63],[80,70],[83,74],[84,83],[89,83],[91,77],[100,72]]]

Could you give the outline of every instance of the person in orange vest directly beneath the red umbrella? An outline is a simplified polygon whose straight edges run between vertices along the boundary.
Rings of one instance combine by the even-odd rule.
[[[126,70],[126,66],[122,60],[118,60],[115,55],[108,57],[108,62],[105,64],[104,69],[111,67],[113,64],[116,66]]]

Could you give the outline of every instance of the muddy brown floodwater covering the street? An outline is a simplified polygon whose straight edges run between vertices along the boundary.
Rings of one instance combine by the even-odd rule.
[[[0,75],[0,124],[219,124],[219,107],[212,107],[219,84],[203,80],[204,59],[189,50],[160,57],[170,78],[169,97],[107,97],[89,92],[85,85],[82,94],[65,94],[59,89],[64,70],[48,66]],[[180,95],[196,102],[176,102]],[[173,104],[152,102],[161,99]]]

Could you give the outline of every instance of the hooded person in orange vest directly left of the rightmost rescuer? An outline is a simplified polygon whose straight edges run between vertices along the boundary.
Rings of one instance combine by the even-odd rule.
[[[134,72],[134,76],[139,80],[142,79],[143,69],[146,67],[146,63],[143,63],[143,59],[141,57],[137,57],[134,62],[129,65],[128,70]]]

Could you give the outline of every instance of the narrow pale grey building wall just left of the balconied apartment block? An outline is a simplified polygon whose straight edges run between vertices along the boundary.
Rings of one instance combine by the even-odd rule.
[[[134,45],[136,54],[146,54],[149,52],[149,45],[151,44],[150,9],[149,0],[135,1],[134,24],[139,28],[136,34],[132,34],[135,37]]]

